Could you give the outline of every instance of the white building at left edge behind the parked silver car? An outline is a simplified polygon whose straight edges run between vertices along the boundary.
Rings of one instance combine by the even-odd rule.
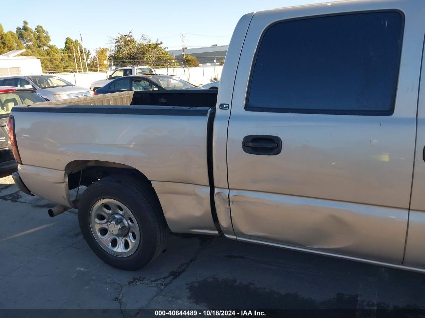
[[[17,56],[25,50],[13,50],[0,55],[0,77],[9,75],[41,75],[41,62],[34,56]]]

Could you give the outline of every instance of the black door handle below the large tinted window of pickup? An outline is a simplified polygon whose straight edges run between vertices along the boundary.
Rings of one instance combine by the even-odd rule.
[[[243,138],[242,149],[252,155],[278,155],[282,151],[282,140],[277,136],[249,135]]]

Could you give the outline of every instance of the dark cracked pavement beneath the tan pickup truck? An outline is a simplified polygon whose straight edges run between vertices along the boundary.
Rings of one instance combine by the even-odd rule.
[[[76,210],[0,178],[0,307],[4,309],[424,309],[425,276],[227,240],[173,235],[162,255],[127,272],[100,261]]]

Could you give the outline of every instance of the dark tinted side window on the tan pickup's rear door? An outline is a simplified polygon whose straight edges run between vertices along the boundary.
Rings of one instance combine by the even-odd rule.
[[[264,34],[246,110],[391,115],[403,19],[397,12],[280,22]]]

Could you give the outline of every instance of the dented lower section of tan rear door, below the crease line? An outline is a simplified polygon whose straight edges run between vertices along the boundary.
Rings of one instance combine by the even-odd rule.
[[[231,190],[236,236],[401,264],[404,209]]]

